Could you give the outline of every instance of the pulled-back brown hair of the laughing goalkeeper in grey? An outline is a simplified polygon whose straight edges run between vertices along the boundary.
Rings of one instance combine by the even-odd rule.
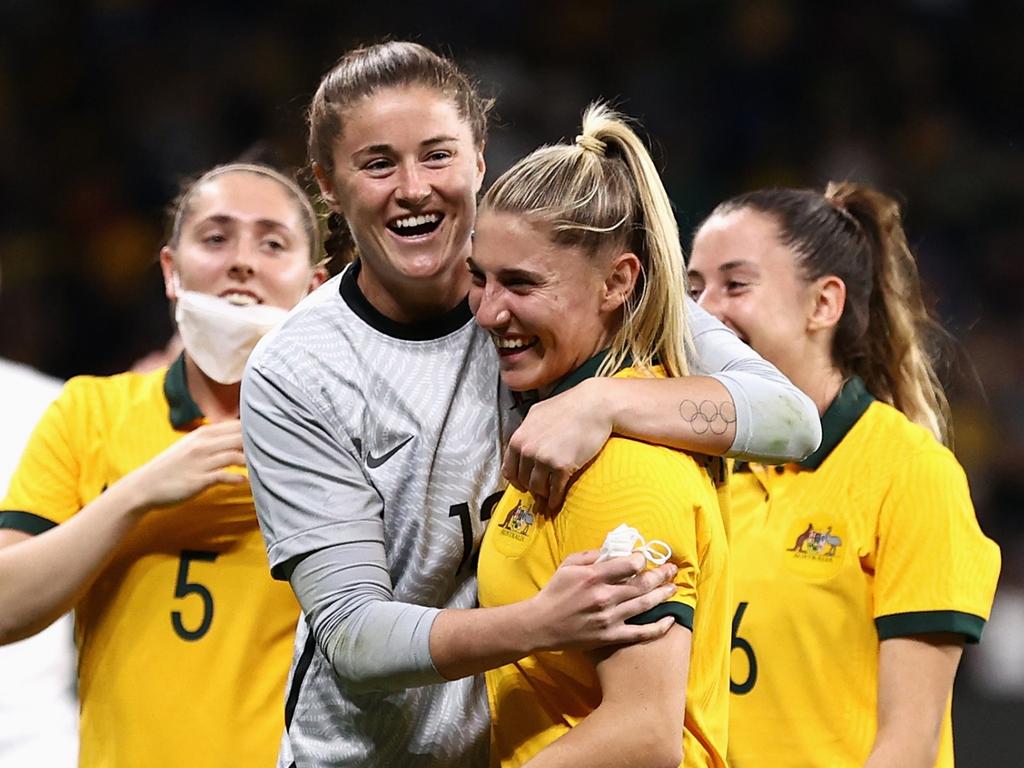
[[[482,98],[476,84],[450,58],[419,43],[390,41],[348,51],[319,82],[306,114],[309,160],[329,175],[334,172],[334,145],[344,130],[344,112],[384,88],[420,85],[451,98],[482,147],[493,99]],[[327,219],[328,256],[350,260],[355,244],[340,213]]]

